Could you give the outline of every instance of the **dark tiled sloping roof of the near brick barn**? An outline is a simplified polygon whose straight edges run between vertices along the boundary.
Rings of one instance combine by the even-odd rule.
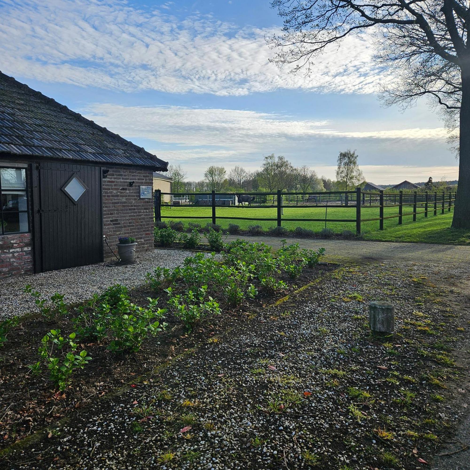
[[[104,164],[168,163],[0,72],[0,155],[66,158]]]

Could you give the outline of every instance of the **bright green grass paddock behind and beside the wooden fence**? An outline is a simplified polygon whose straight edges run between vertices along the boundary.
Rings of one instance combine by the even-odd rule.
[[[422,210],[418,205],[418,211]],[[324,219],[325,207],[302,208],[302,207],[284,207],[282,219]],[[403,213],[413,211],[412,206],[404,206]],[[211,207],[165,207],[161,209],[163,221],[181,220],[188,227],[189,222],[201,224],[204,227],[211,223]],[[384,209],[385,217],[398,213],[398,207]],[[434,217],[433,211],[429,211],[429,217],[424,218],[424,214],[416,216],[416,222],[413,222],[413,216],[403,217],[403,225],[398,225],[398,218],[385,219],[384,230],[379,230],[378,220],[362,222],[361,231],[365,240],[393,241],[393,242],[423,242],[423,243],[452,243],[452,244],[470,244],[470,233],[462,230],[453,230],[450,228],[452,215],[454,211],[448,212],[447,208],[444,214],[438,209],[438,215]],[[248,207],[217,207],[217,217],[251,217],[251,218],[272,218],[275,219],[276,208],[258,208],[256,206]],[[181,216],[187,217],[207,217],[207,219],[180,219]],[[363,206],[361,211],[362,219],[372,219],[379,216],[378,207]],[[356,208],[329,207],[327,213],[328,219],[355,219]],[[228,224],[234,223],[242,229],[250,225],[261,225],[265,230],[277,225],[275,220],[236,220],[236,219],[217,219],[217,224],[222,228],[227,228]],[[282,226],[293,229],[295,227],[304,227],[319,232],[325,227],[325,222],[290,222],[283,221]],[[334,232],[341,233],[343,230],[350,230],[356,233],[355,222],[327,222],[326,225]]]

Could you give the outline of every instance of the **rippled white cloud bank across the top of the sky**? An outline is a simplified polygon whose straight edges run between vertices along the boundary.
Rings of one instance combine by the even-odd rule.
[[[120,0],[4,0],[3,71],[126,92],[374,93],[378,88],[381,77],[367,36],[346,38],[305,77],[268,62],[273,51],[265,35],[274,28],[240,28],[200,14],[180,18],[170,13],[173,6],[138,10]]]

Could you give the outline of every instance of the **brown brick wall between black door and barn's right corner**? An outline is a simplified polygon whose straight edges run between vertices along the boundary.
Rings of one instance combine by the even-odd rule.
[[[129,181],[134,181],[132,187]],[[153,249],[153,198],[140,199],[140,186],[152,186],[153,173],[133,168],[110,168],[103,187],[103,234],[117,252],[119,236],[133,236],[137,253]],[[104,243],[104,259],[114,256]]]

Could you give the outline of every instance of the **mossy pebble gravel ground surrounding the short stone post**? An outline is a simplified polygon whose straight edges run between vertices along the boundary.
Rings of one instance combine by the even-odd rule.
[[[386,261],[346,268],[250,321],[234,320],[232,330],[194,353],[175,342],[167,367],[118,396],[97,398],[29,454],[19,446],[12,458],[21,463],[8,468],[424,468],[417,458],[429,461],[433,445],[421,439],[414,452],[416,444],[405,430],[441,433],[439,423],[420,424],[437,413],[429,399],[436,389],[422,374],[439,368],[432,361],[417,365],[406,341],[411,337],[406,319],[414,318],[417,308],[433,320],[443,311],[445,293],[438,302],[419,306],[417,293],[423,295],[425,288],[417,281],[428,282],[430,276],[441,289],[460,295],[459,279],[465,275],[466,267],[439,263]],[[393,299],[397,328],[404,334],[399,344],[386,349],[368,341],[360,326],[367,302],[345,300],[352,291],[367,300]],[[454,318],[459,325],[468,320],[459,308],[439,325],[462,341],[452,324]],[[458,383],[449,378],[448,389],[437,389],[449,400],[439,407],[439,422],[453,423],[468,413],[463,378]],[[370,394],[354,398],[348,385]],[[458,411],[449,406],[456,387],[464,388]],[[404,388],[414,392],[410,407],[397,402]],[[376,437],[384,427],[394,431],[393,439]],[[403,465],[395,465],[393,455]]]

